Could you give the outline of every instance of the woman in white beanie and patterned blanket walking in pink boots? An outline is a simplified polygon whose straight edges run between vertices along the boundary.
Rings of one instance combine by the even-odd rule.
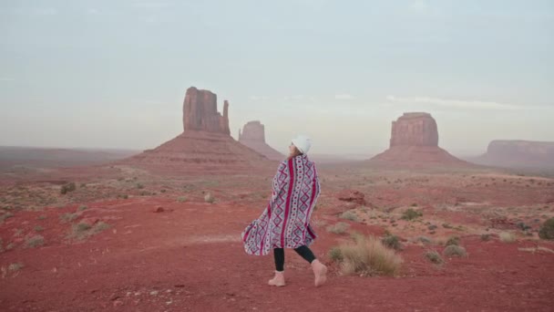
[[[292,140],[290,155],[273,178],[270,203],[260,218],[242,232],[247,254],[268,255],[273,250],[275,276],[269,281],[271,286],[285,286],[283,248],[294,249],[312,265],[315,286],[322,286],[326,280],[327,267],[308,248],[316,237],[310,216],[320,193],[315,164],[306,155],[311,146],[307,136]]]

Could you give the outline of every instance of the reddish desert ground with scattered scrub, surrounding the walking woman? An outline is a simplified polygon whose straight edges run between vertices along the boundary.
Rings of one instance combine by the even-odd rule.
[[[318,288],[292,251],[287,286],[279,288],[267,285],[272,256],[243,251],[241,231],[267,204],[274,168],[225,175],[123,165],[3,172],[0,309],[552,310],[554,244],[538,236],[554,216],[549,174],[391,170],[364,161],[318,170],[323,193],[312,218],[319,236],[313,251],[330,267]],[[404,220],[408,209],[421,215]],[[395,235],[399,272],[341,274],[330,251],[353,234]],[[467,255],[444,254],[454,236]],[[432,251],[442,263],[426,257]]]

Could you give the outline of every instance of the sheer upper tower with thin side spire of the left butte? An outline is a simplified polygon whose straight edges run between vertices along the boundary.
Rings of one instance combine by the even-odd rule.
[[[218,112],[217,95],[209,90],[187,89],[183,101],[183,130],[200,130],[231,134],[229,129],[229,102],[225,100],[223,116]]]

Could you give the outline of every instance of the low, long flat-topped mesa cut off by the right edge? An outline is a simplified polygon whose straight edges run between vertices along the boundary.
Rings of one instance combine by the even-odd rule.
[[[510,168],[554,168],[554,142],[493,140],[488,144],[487,152],[472,161]]]

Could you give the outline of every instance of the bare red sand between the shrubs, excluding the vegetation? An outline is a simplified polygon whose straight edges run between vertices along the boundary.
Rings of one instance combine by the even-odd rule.
[[[552,184],[548,184],[554,182],[551,179],[544,179],[540,185],[536,179],[532,186],[523,187],[516,186],[521,183],[521,177],[509,176],[503,182],[502,176],[491,178],[480,173],[450,177],[433,172],[349,172],[344,169],[327,172],[322,169],[321,172],[324,193],[313,217],[319,234],[313,251],[326,263],[330,263],[326,255],[328,250],[348,239],[347,234],[328,233],[326,224],[339,221],[336,213],[350,208],[362,213],[360,207],[340,203],[334,198],[335,192],[344,186],[366,194],[366,201],[374,207],[369,213],[388,213],[387,218],[396,218],[396,209],[416,202],[425,220],[436,222],[435,219],[449,218],[451,223],[482,226],[479,231],[485,231],[488,226],[488,219],[483,217],[486,213],[483,213],[508,207],[505,203],[521,207],[523,211],[539,210],[548,205],[538,212],[539,215],[546,213],[545,216],[551,216],[554,208],[548,203],[549,196],[554,195]],[[154,178],[140,175],[138,179],[154,181]],[[548,251],[531,253],[518,248],[554,249],[554,244],[526,239],[520,234],[517,243],[505,244],[496,237],[483,242],[478,231],[457,233],[462,237],[468,257],[446,259],[442,266],[433,265],[423,257],[427,248],[442,252],[441,245],[406,244],[405,250],[399,252],[404,264],[398,277],[338,276],[336,265],[331,264],[328,283],[321,288],[313,287],[309,265],[289,251],[288,285],[282,288],[267,286],[267,280],[272,277],[272,257],[246,255],[240,240],[242,229],[262,212],[264,193],[270,185],[267,179],[230,177],[204,184],[200,180],[191,181],[185,186],[202,186],[188,191],[187,201],[180,203],[176,201],[180,191],[175,185],[183,182],[171,184],[169,178],[157,178],[145,187],[155,189],[156,195],[136,195],[127,200],[76,200],[68,204],[60,202],[64,203],[60,208],[49,206],[42,211],[15,211],[13,217],[0,224],[4,247],[15,243],[13,249],[0,253],[0,265],[21,263],[25,266],[15,272],[6,272],[0,278],[0,310],[552,310],[554,254]],[[493,185],[490,179],[498,184],[487,190],[484,184]],[[530,183],[528,178],[523,179],[523,183]],[[5,185],[10,183],[13,182],[2,184],[0,195],[7,196],[8,186]],[[19,185],[30,188],[33,183],[36,182],[29,185],[19,182]],[[104,183],[104,188],[98,190],[109,189],[111,183],[117,181]],[[160,183],[169,184],[164,186],[169,191],[159,192]],[[87,189],[96,190],[93,183],[90,185],[70,196],[86,198],[86,192],[90,192]],[[131,192],[129,190],[125,192]],[[201,190],[215,193],[216,203],[203,203]],[[78,197],[81,195],[85,197]],[[60,222],[59,216],[76,212],[80,204],[86,204],[87,209],[80,212],[74,224],[83,218],[98,218],[110,224],[110,228],[83,241],[69,241],[67,234],[71,224]],[[164,212],[153,213],[157,206],[162,206]],[[514,210],[512,214],[519,212]],[[512,214],[503,217],[517,218]],[[43,217],[39,219],[39,216]],[[421,234],[417,228],[407,226],[423,226],[400,221],[395,227],[388,222],[340,221],[364,234],[381,235],[385,229],[394,230],[404,240]],[[44,231],[36,233],[36,225],[42,226]],[[538,225],[533,226],[536,229]],[[26,238],[33,234],[43,235],[46,244],[25,248]],[[425,229],[423,234],[426,234]]]

